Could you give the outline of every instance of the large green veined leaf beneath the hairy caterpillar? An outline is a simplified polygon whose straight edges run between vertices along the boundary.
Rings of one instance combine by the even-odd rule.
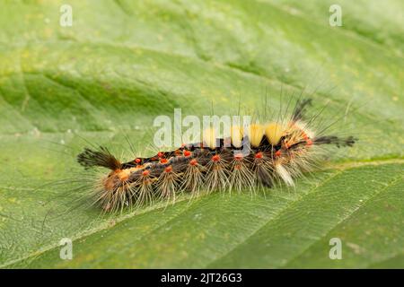
[[[339,1],[342,27],[332,1],[69,3],[72,27],[62,1],[0,9],[1,267],[404,267],[402,1]],[[75,189],[87,142],[128,159],[175,108],[235,114],[241,95],[256,114],[303,89],[359,141],[294,190],[101,215]]]

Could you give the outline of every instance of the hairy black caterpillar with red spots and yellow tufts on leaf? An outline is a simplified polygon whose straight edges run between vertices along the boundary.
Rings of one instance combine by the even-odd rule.
[[[200,143],[186,143],[152,157],[121,162],[105,146],[85,148],[77,161],[85,169],[102,167],[110,172],[94,188],[94,204],[105,212],[125,206],[175,201],[180,193],[198,195],[201,190],[242,191],[274,187],[310,171],[321,159],[321,146],[353,146],[353,136],[323,135],[304,114],[311,99],[297,100],[286,120],[232,126],[231,135],[216,137],[207,128]],[[248,130],[248,132],[246,132]],[[247,147],[247,149],[245,149]]]

